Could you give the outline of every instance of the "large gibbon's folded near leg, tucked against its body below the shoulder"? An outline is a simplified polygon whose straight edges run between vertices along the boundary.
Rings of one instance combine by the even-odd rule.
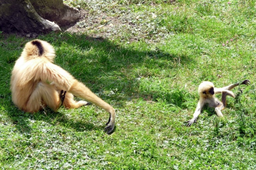
[[[49,106],[54,111],[57,111],[65,98],[65,92],[58,93],[52,85],[39,82],[35,90],[31,93],[26,104],[26,111],[37,112],[42,109],[42,104]]]

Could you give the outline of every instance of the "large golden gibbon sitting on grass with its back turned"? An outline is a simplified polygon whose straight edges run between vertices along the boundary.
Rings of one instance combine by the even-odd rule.
[[[35,39],[25,45],[12,70],[10,90],[13,103],[26,112],[37,112],[47,105],[57,111],[62,104],[70,109],[92,102],[110,114],[105,128],[110,134],[115,124],[115,109],[55,65],[54,58],[54,48],[46,41]],[[75,101],[74,95],[88,102]]]

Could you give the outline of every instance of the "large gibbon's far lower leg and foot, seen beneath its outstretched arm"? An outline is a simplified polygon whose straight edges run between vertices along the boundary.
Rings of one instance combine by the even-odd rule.
[[[90,103],[83,101],[83,100],[80,100],[80,101],[74,100],[74,95],[69,92],[66,93],[66,97],[63,102],[64,107],[66,107],[67,109],[78,108],[78,107],[81,107],[83,105],[88,105],[88,104],[90,104]]]

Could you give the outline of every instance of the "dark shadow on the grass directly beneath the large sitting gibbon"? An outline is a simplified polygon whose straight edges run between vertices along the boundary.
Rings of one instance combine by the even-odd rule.
[[[65,113],[54,112],[48,107],[36,113],[23,112],[19,110],[10,99],[8,102],[9,104],[5,104],[7,116],[20,133],[31,133],[33,129],[33,123],[31,122],[33,121],[45,122],[52,125],[57,124],[76,131],[104,131],[105,128],[105,126],[97,126],[91,123],[89,119],[77,121],[73,117],[66,116]]]

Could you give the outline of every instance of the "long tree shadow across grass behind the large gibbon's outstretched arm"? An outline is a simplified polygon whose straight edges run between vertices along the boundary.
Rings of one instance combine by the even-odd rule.
[[[60,58],[56,59],[57,63],[65,62],[66,64],[62,65],[64,69],[68,70],[75,78],[88,85],[94,92],[99,91],[99,95],[101,95],[100,91],[103,88],[117,88],[119,93],[124,94],[118,100],[119,105],[123,105],[121,102],[123,99],[130,98],[129,95],[131,93],[135,94],[134,96],[136,97],[145,97],[144,93],[140,92],[138,89],[140,82],[137,80],[139,78],[157,76],[157,73],[150,71],[150,68],[157,67],[159,70],[166,68],[175,69],[175,65],[165,65],[166,61],[178,63],[178,65],[194,62],[192,57],[186,54],[178,55],[168,53],[157,47],[153,50],[147,49],[145,48],[145,44],[142,44],[142,47],[126,47],[103,38],[89,37],[84,34],[72,34],[71,37],[68,38],[67,36],[60,37],[57,41],[59,41],[59,43],[64,41],[68,46],[73,46],[74,49],[85,51],[85,53],[80,54],[79,58],[74,59],[63,55],[68,54],[69,51],[65,49],[57,50],[57,58],[62,58],[63,56],[67,57],[64,59],[65,61],[62,61]],[[52,41],[52,43],[55,42]],[[88,53],[90,49],[99,50],[91,54]],[[93,64],[86,60],[93,61]],[[73,69],[73,66],[77,63],[86,66],[81,66],[78,72],[77,68]],[[149,68],[149,71],[140,71],[139,68],[145,65]],[[134,70],[138,70],[137,73],[135,73]],[[157,96],[161,97],[163,95],[160,92]]]

